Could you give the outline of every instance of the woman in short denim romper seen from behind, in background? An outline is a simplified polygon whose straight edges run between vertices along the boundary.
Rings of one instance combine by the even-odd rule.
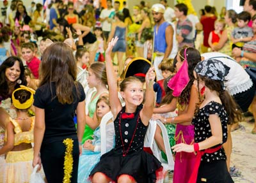
[[[111,31],[109,33],[108,43],[112,40],[112,38],[118,37],[118,41],[116,45],[113,47],[111,52],[112,60],[117,53],[117,61],[119,66],[119,73],[122,73],[124,70],[124,61],[123,56],[126,52],[126,36],[127,36],[127,26],[124,23],[124,15],[123,13],[115,14],[115,22],[112,23]]]

